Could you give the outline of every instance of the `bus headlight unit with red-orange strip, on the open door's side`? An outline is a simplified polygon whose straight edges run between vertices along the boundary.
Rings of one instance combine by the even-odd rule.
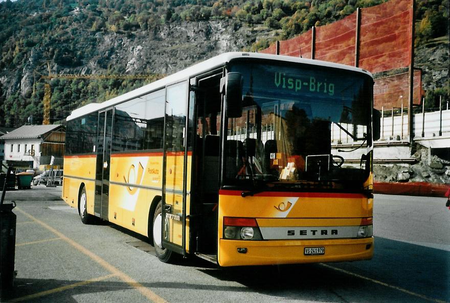
[[[223,238],[230,240],[262,240],[254,218],[223,218]]]

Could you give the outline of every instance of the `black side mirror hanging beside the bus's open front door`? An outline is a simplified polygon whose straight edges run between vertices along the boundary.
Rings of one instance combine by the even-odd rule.
[[[225,113],[228,118],[242,116],[242,74],[228,73],[220,79],[220,93],[225,95]]]

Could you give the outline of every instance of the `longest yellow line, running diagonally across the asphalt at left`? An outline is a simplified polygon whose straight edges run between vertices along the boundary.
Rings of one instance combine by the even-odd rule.
[[[100,264],[106,270],[108,270],[112,274],[118,276],[123,282],[125,282],[129,286],[131,286],[133,288],[136,288],[141,294],[143,294],[145,297],[147,297],[151,301],[153,301],[155,303],[167,303],[167,301],[165,299],[163,299],[159,295],[155,294],[153,291],[149,290],[148,288],[144,287],[142,284],[140,284],[139,282],[137,282],[136,280],[131,278],[126,273],[120,271],[119,269],[117,269],[113,265],[107,263],[104,259],[102,259],[98,255],[96,255],[92,251],[84,248],[83,246],[81,246],[77,242],[73,241],[72,239],[69,239],[63,233],[57,231],[56,229],[54,229],[53,227],[47,225],[46,223],[44,223],[44,222],[34,218],[31,214],[25,212],[24,210],[21,210],[19,207],[16,207],[15,209],[18,210],[19,212],[21,212],[22,214],[26,215],[31,220],[35,221],[36,223],[40,224],[41,226],[47,228],[48,230],[50,230],[51,232],[56,234],[58,237],[61,238],[61,240],[69,243],[74,248],[76,248],[78,251],[80,251],[81,253],[83,253],[83,254],[87,255],[88,257],[90,257],[91,259],[93,259],[95,262]]]

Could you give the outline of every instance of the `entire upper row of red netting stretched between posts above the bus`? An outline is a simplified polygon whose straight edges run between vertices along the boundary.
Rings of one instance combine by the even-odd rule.
[[[361,10],[358,66],[378,73],[408,67],[412,47],[412,0],[391,0]],[[356,13],[335,23],[316,28],[319,60],[354,66]],[[311,58],[312,31],[280,42],[280,54]],[[275,54],[276,44],[261,53]]]

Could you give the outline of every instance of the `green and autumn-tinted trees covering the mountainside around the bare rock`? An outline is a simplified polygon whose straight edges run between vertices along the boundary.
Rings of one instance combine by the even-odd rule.
[[[108,58],[99,54],[96,35],[105,32],[133,35],[147,31],[158,35],[162,24],[234,18],[235,28],[241,23],[265,25],[278,30],[280,39],[308,31],[314,25],[326,25],[355,11],[387,0],[9,0],[0,3],[0,77],[12,75],[19,83],[25,67],[30,70],[50,61],[61,69],[85,66],[91,58]],[[448,35],[449,0],[417,0],[416,44]],[[257,39],[250,51],[265,49],[271,43]],[[81,47],[82,49],[81,49]],[[98,66],[109,69],[108,60]],[[42,68],[42,72],[44,68]],[[123,73],[124,66],[110,73]],[[142,71],[145,73],[145,71]],[[141,80],[58,80],[51,83],[51,117],[65,116],[80,105],[101,102],[136,88]],[[1,82],[0,82],[1,84]],[[0,85],[0,125],[20,126],[30,115],[34,123],[42,119],[43,83],[36,84],[35,93],[22,96],[19,86]],[[8,97],[6,91],[8,90]],[[429,92],[426,102],[435,102],[437,94]],[[434,101],[433,101],[434,100]],[[434,104],[434,103],[433,103]]]

